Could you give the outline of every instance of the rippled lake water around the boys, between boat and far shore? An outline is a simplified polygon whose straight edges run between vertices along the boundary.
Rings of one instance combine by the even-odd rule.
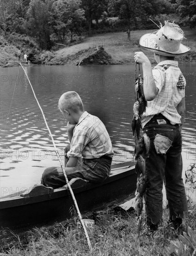
[[[183,170],[196,162],[196,64],[180,64],[187,80],[183,126]],[[74,90],[85,110],[106,125],[114,147],[114,163],[133,161],[131,119],[134,103],[134,65],[29,66],[25,71],[43,108],[63,159],[68,143],[66,121],[58,99]],[[21,67],[0,69],[0,187],[1,196],[40,183],[44,168],[59,166],[50,135]],[[193,200],[196,192],[189,191]]]

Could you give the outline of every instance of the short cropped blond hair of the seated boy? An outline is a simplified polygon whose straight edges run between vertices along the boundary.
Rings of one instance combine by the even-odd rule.
[[[74,91],[66,92],[61,95],[58,101],[58,108],[61,112],[64,110],[71,110],[74,113],[84,111],[82,100],[79,94]]]

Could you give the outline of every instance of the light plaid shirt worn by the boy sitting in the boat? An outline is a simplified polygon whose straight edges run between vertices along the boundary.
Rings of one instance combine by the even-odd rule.
[[[88,112],[84,112],[74,128],[68,156],[85,159],[114,155],[112,142],[102,121]]]

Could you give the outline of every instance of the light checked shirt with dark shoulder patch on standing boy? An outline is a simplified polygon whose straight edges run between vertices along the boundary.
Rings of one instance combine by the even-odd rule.
[[[161,113],[171,124],[180,124],[181,116],[177,113],[177,105],[185,96],[185,78],[177,61],[161,61],[152,69],[158,88],[158,94],[152,101],[147,101],[146,112],[142,115],[141,126]]]

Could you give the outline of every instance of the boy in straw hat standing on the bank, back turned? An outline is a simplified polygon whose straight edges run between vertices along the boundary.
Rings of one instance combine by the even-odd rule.
[[[151,140],[150,155],[145,160],[146,216],[151,231],[157,230],[162,220],[164,175],[169,222],[182,231],[182,219],[187,213],[181,156],[186,81],[175,61],[176,56],[190,50],[181,43],[183,38],[183,31],[178,25],[165,21],[157,33],[145,34],[139,40],[143,49],[154,53],[158,65],[152,69],[143,52],[134,55],[135,62],[142,65],[147,101],[141,128]]]

